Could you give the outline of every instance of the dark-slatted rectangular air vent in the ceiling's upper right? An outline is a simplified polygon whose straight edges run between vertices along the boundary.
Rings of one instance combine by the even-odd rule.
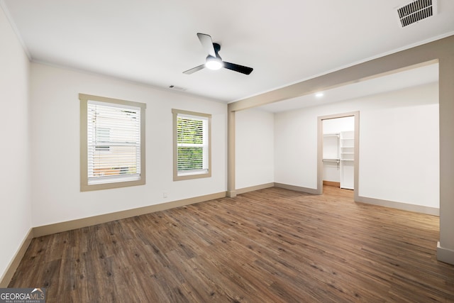
[[[399,21],[403,28],[436,15],[436,12],[436,0],[416,0],[397,9]]]

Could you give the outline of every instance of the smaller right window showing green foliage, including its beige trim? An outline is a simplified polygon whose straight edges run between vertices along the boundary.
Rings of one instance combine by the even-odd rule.
[[[211,115],[172,109],[173,180],[211,177]]]

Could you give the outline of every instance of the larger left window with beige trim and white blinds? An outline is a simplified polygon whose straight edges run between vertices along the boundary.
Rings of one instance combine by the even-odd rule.
[[[145,184],[145,104],[79,94],[81,190]]]

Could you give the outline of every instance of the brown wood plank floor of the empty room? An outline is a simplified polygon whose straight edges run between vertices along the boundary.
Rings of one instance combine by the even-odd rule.
[[[454,302],[438,217],[270,188],[35,238],[47,302]]]

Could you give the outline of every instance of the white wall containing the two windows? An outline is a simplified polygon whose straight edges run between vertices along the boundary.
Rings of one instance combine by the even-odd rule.
[[[147,104],[145,185],[80,192],[79,93]],[[226,104],[37,63],[31,100],[33,226],[226,191]],[[172,108],[212,114],[212,177],[173,181]]]

